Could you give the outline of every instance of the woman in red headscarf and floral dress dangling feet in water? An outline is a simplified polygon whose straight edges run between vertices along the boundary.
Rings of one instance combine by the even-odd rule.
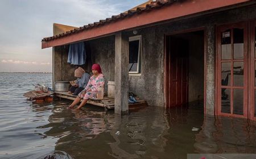
[[[105,79],[104,79],[104,75],[101,72],[100,65],[93,64],[92,72],[93,72],[93,76],[90,77],[90,80],[88,81],[87,86],[85,87],[84,90],[81,91],[81,93],[79,93],[79,95],[76,97],[76,99],[68,108],[75,107],[75,105],[78,104],[81,101],[81,99],[83,99],[79,107],[76,108],[76,110],[79,110],[81,107],[83,107],[87,103],[89,98],[96,98],[98,87],[104,87]]]

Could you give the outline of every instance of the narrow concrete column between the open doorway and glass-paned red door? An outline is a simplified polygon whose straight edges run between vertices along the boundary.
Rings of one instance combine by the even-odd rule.
[[[206,52],[206,105],[205,114],[214,115],[214,103],[215,100],[215,28],[214,25],[207,26],[207,52]]]

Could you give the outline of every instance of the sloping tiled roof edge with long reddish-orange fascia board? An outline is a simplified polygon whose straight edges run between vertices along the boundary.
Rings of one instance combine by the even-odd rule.
[[[250,0],[159,0],[150,2],[145,7],[135,7],[136,10],[128,10],[111,18],[99,20],[59,35],[44,37],[42,48],[54,47],[74,43],[76,41],[88,40],[94,37],[114,34],[114,32],[127,30],[151,23],[163,22],[185,15],[195,14]]]

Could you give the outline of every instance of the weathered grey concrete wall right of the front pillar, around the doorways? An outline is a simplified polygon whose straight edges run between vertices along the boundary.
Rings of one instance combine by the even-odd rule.
[[[164,34],[174,34],[193,28],[205,28],[206,53],[206,110],[214,114],[214,67],[215,67],[215,26],[225,23],[236,23],[248,19],[256,19],[256,7],[242,7],[215,14],[170,22],[155,27],[137,30],[142,35],[142,73],[141,76],[130,76],[129,89],[148,104],[164,106],[163,68],[164,68]],[[133,34],[129,32],[130,36]],[[201,83],[201,82],[200,82]],[[203,85],[203,83],[201,83]]]

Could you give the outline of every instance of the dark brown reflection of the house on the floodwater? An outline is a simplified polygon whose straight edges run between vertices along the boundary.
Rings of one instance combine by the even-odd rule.
[[[255,123],[204,116],[202,102],[147,107],[130,115],[71,111],[55,103],[44,134],[73,158],[186,158],[188,153],[256,153]],[[194,129],[197,128],[197,129]],[[196,130],[196,131],[195,131]]]

